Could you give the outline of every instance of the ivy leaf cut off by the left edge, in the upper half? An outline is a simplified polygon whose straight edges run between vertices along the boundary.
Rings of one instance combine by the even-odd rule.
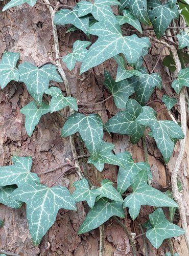
[[[0,62],[0,85],[4,89],[10,81],[19,81],[19,72],[15,69],[19,53],[4,52]]]

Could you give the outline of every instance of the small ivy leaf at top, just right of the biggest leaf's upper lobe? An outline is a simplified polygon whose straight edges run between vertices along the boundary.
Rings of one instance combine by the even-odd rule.
[[[143,33],[139,20],[135,18],[132,12],[128,9],[123,10],[123,15],[117,15],[116,19],[120,26],[128,23],[129,25],[133,26],[133,28],[137,29],[140,33]]]

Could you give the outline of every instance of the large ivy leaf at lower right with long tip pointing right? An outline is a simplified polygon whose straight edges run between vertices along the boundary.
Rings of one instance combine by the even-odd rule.
[[[171,198],[149,186],[147,179],[146,170],[141,170],[138,175],[131,177],[133,193],[126,197],[123,207],[129,208],[129,214],[132,220],[135,220],[138,216],[141,205],[178,207]]]

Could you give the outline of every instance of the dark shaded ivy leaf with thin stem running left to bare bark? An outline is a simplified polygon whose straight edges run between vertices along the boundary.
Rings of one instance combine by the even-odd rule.
[[[129,80],[115,82],[108,71],[104,71],[104,86],[113,95],[115,105],[118,109],[125,109],[129,96],[134,93],[134,87]]]

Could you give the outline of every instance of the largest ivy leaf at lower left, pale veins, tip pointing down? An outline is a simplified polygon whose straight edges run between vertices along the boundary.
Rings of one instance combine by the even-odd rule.
[[[14,190],[11,199],[27,204],[27,219],[34,245],[39,245],[54,224],[59,209],[77,209],[69,190],[62,186],[47,187],[30,182]]]

